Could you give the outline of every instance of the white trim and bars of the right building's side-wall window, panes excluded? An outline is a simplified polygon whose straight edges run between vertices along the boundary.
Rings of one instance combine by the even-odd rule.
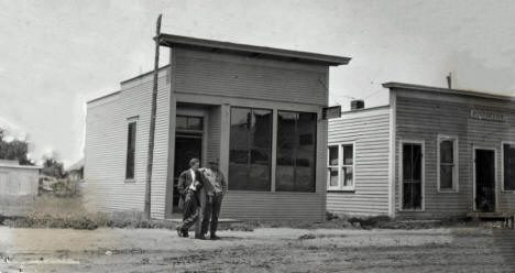
[[[344,159],[344,146],[352,148],[352,163],[347,163],[343,161]],[[331,162],[331,154],[330,150],[337,148],[337,163]],[[338,143],[329,143],[327,148],[327,190],[328,192],[354,192],[355,189],[355,142],[338,142]],[[331,164],[332,163],[332,164]],[[336,185],[331,183],[331,172],[337,172],[337,181]],[[351,172],[351,183],[350,185],[346,185],[346,173],[350,170]]]

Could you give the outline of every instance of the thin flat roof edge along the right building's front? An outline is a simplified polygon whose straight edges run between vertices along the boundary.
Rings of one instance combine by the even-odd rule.
[[[446,94],[446,95],[461,95],[461,96],[509,100],[509,101],[515,100],[515,97],[509,96],[509,95],[485,92],[485,91],[473,91],[473,90],[464,90],[464,89],[449,89],[449,88],[442,88],[442,87],[414,85],[414,84],[405,84],[405,83],[396,83],[396,81],[384,83],[382,84],[382,86],[388,89],[401,88],[401,89],[412,89],[412,90],[419,90],[419,91],[440,92],[440,94]]]

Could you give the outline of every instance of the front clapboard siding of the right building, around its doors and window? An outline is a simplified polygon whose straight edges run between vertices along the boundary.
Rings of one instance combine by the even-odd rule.
[[[500,210],[515,209],[515,195],[502,193],[502,141],[515,140],[513,102],[485,98],[460,98],[452,95],[424,97],[415,90],[396,90],[396,210],[401,216],[463,215],[473,209],[473,146],[496,151],[496,189]],[[421,98],[423,97],[423,98]],[[472,109],[502,112],[507,122],[481,121],[470,118]],[[438,134],[457,135],[459,144],[459,192],[437,190]],[[399,211],[401,140],[425,142],[425,211]]]

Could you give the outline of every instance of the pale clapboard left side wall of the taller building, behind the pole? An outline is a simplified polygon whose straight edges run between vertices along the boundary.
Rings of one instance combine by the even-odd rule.
[[[160,73],[152,175],[152,217],[164,217],[168,146],[166,70]],[[144,208],[152,75],[135,79],[114,96],[88,103],[86,118],[85,181],[98,209]],[[136,148],[133,182],[125,182],[128,119],[135,119]]]

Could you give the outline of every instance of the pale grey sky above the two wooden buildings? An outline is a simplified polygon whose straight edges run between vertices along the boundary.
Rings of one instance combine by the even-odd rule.
[[[513,95],[515,1],[0,0],[0,128],[30,156],[84,156],[86,101],[153,68],[162,32],[352,57],[330,103],[387,103],[404,81]],[[168,62],[162,47],[161,64]]]

